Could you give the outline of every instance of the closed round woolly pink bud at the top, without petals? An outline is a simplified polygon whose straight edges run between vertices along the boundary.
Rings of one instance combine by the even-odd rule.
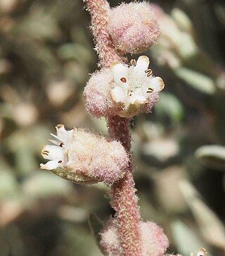
[[[123,54],[145,51],[157,41],[160,28],[150,4],[130,3],[112,8],[108,32]]]

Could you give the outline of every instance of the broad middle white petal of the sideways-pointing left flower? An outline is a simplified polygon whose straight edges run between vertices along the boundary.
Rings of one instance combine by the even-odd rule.
[[[41,151],[42,157],[49,160],[64,160],[64,150],[62,147],[46,145]]]

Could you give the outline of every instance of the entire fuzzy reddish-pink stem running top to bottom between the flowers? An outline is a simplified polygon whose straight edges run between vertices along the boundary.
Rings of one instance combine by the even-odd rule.
[[[124,57],[113,46],[108,35],[108,12],[110,6],[105,0],[84,0],[87,10],[91,14],[91,29],[96,42],[96,51],[100,59],[100,66],[109,67],[115,61],[124,61]],[[129,154],[127,173],[117,183],[111,186],[111,206],[116,211],[117,228],[120,233],[120,243],[123,255],[141,255],[141,216],[134,188],[131,159],[130,121],[120,116],[108,118],[108,133],[111,138],[119,140]]]

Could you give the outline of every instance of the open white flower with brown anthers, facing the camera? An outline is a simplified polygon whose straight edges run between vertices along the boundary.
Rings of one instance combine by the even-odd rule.
[[[148,104],[153,94],[160,92],[165,84],[160,77],[154,77],[148,68],[147,56],[132,59],[129,65],[115,63],[111,66],[116,86],[111,90],[113,101],[122,104],[122,117],[134,116],[137,109]],[[126,114],[129,113],[129,114]]]

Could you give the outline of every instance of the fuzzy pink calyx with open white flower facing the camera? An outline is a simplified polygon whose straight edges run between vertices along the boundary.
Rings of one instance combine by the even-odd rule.
[[[147,56],[140,56],[129,65],[114,63],[92,75],[84,90],[86,109],[97,117],[132,118],[150,112],[165,84],[153,75],[149,63]]]

